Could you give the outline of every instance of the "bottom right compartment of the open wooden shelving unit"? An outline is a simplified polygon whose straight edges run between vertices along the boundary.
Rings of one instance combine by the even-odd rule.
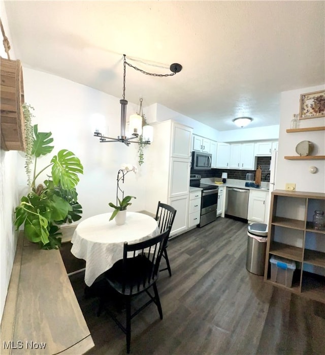
[[[304,271],[301,292],[305,297],[325,303],[325,277]]]

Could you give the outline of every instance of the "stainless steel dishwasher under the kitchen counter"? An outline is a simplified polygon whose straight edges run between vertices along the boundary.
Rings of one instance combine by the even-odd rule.
[[[247,219],[249,190],[229,187],[226,194],[225,214]]]

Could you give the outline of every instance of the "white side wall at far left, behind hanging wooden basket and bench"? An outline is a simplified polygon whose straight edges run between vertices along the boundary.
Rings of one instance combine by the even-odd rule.
[[[11,38],[5,5],[0,2],[1,20],[6,36]],[[11,43],[10,58],[15,60],[15,52]],[[3,45],[0,46],[0,55],[7,59]],[[13,221],[15,206],[18,204],[17,194],[17,156],[16,151],[0,151],[0,270],[1,270],[1,293],[0,293],[0,317],[2,318],[7,297],[12,265],[14,262],[17,232],[14,231]]]

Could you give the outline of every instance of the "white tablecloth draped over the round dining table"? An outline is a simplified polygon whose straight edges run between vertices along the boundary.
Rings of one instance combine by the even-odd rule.
[[[109,221],[111,213],[93,216],[80,222],[73,234],[71,252],[86,260],[85,283],[96,278],[123,258],[123,244],[144,241],[159,234],[157,222],[150,216],[126,212],[126,222]]]

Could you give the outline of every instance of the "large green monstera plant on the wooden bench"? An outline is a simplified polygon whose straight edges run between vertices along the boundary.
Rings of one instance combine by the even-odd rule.
[[[59,226],[81,218],[76,185],[83,166],[74,153],[63,149],[36,172],[38,158],[51,153],[54,146],[51,132],[38,132],[38,125],[33,126],[33,132],[30,155],[35,158],[34,175],[28,193],[15,209],[14,224],[17,230],[23,225],[25,237],[42,249],[58,249],[61,244]],[[49,170],[48,179],[37,185],[37,179],[45,170]]]

